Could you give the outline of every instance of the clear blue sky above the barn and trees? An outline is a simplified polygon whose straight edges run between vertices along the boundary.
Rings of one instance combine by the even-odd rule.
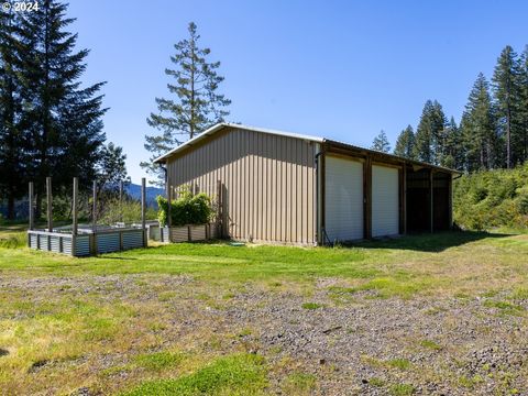
[[[70,0],[68,14],[91,50],[84,81],[108,81],[105,130],[134,183],[189,21],[222,63],[229,121],[362,146],[382,129],[394,145],[427,99],[459,121],[479,72],[528,44],[526,1]]]

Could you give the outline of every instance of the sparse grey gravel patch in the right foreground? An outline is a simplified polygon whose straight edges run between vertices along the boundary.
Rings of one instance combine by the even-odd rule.
[[[323,394],[340,395],[343,386],[377,394],[399,385],[417,394],[528,393],[524,310],[505,314],[483,298],[377,299],[371,293],[332,306],[320,287],[328,284],[319,282],[309,299],[318,309],[302,309],[307,298],[289,293],[245,293],[224,315],[255,329],[273,362],[302,362]]]

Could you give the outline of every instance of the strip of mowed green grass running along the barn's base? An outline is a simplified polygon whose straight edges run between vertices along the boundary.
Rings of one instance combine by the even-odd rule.
[[[224,285],[309,283],[323,277],[343,280],[350,286],[344,292],[374,290],[406,298],[420,293],[473,295],[505,287],[522,293],[528,280],[528,234],[446,232],[336,249],[182,243],[87,258],[9,249],[25,239],[21,232],[6,234],[0,237],[0,272],[29,277],[188,274]]]

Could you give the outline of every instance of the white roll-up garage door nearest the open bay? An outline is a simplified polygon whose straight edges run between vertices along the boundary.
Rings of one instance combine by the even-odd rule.
[[[399,233],[398,169],[372,166],[372,237]]]

